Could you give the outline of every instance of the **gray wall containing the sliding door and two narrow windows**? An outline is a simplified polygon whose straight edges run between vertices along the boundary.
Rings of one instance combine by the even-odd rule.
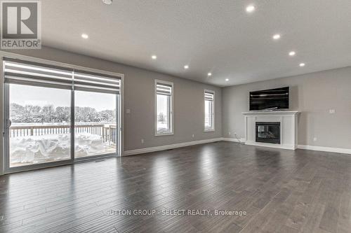
[[[54,48],[44,47],[41,50],[16,50],[15,52],[55,62],[124,73],[124,106],[125,109],[131,109],[131,113],[124,114],[124,150],[164,146],[173,143],[220,138],[222,136],[222,94],[220,87]],[[154,136],[154,79],[174,83],[173,136]],[[215,132],[204,132],[204,89],[216,92]],[[0,102],[2,104],[2,94]],[[194,138],[192,138],[192,134],[194,134]],[[145,140],[143,144],[141,139]]]

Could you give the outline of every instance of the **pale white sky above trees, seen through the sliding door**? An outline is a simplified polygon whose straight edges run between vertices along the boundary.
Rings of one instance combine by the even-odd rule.
[[[71,91],[48,87],[10,85],[10,102],[25,105],[70,106]],[[75,92],[75,106],[91,107],[96,111],[116,109],[116,96],[98,92]]]

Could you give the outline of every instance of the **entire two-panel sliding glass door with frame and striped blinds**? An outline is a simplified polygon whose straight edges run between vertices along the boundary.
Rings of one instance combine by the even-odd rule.
[[[121,77],[4,58],[6,172],[120,153]]]

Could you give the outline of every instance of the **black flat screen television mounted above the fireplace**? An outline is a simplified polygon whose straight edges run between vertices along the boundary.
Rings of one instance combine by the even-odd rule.
[[[289,87],[250,92],[250,111],[289,108]]]

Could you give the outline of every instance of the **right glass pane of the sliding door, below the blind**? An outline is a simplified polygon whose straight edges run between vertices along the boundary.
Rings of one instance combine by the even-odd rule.
[[[117,153],[118,95],[74,92],[74,156]]]

